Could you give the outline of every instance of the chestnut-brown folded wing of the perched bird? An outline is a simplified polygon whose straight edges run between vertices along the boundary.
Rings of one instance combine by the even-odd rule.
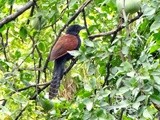
[[[55,60],[67,54],[67,51],[74,50],[77,46],[78,38],[76,36],[70,34],[61,36],[52,48],[50,60]]]

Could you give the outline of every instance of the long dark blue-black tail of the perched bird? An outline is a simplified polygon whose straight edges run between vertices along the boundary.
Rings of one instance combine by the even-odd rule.
[[[49,99],[52,99],[58,94],[58,88],[60,86],[60,81],[63,77],[64,65],[66,60],[58,58],[55,60],[54,70],[53,70],[53,79],[49,88]]]

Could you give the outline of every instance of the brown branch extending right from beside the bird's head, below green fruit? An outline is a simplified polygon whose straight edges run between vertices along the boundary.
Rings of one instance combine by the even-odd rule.
[[[143,13],[139,13],[135,18],[131,19],[128,24],[133,23],[134,21],[136,21],[137,19],[139,19],[142,16]],[[116,32],[121,31],[123,28],[125,28],[126,26],[124,26],[123,24],[121,24],[120,26],[118,26],[116,29],[111,30],[109,32],[104,32],[104,33],[99,33],[99,34],[95,34],[95,35],[90,35],[89,38],[90,39],[95,39],[97,37],[103,37],[103,36],[109,36],[111,34],[114,34]]]

